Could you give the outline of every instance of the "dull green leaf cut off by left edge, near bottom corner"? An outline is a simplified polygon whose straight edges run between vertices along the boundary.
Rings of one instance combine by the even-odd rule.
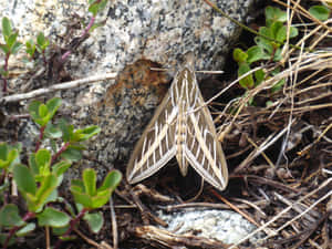
[[[20,217],[19,208],[13,204],[8,204],[0,209],[0,227],[20,227],[25,222]]]

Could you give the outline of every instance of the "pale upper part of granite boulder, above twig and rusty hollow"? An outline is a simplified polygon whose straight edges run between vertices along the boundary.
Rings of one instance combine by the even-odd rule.
[[[215,2],[243,21],[253,0]],[[22,41],[43,31],[53,44],[64,44],[81,34],[82,27],[70,27],[77,21],[87,23],[86,9],[86,0],[0,0],[1,15],[12,20]],[[142,58],[173,65],[188,50],[196,52],[197,69],[219,69],[240,30],[201,0],[110,1],[97,21],[105,24],[95,29],[80,51],[71,55],[73,77],[118,72]]]

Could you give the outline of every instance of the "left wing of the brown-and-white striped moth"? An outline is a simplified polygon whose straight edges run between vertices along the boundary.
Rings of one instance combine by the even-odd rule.
[[[178,108],[173,106],[167,92],[131,156],[126,168],[129,184],[149,177],[175,156],[174,134],[177,113]]]

